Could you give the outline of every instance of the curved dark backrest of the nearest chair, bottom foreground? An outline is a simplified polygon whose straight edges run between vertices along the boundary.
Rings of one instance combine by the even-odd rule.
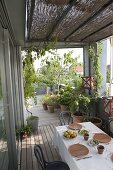
[[[38,163],[41,165],[42,169],[44,170],[46,167],[46,161],[44,159],[42,148],[39,145],[34,146],[34,154],[35,157],[37,158]]]

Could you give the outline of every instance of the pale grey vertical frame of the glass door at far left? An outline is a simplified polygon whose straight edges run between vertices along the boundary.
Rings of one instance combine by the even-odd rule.
[[[12,77],[11,77],[11,63],[10,63],[10,46],[9,34],[7,29],[3,29],[3,55],[1,55],[1,79],[4,98],[4,111],[6,120],[6,134],[9,154],[9,170],[17,170],[17,152],[16,152],[16,134],[15,134],[15,119],[13,106],[13,92],[12,92]]]

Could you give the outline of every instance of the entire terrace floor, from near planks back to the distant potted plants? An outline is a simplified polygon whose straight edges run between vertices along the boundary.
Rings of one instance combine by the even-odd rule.
[[[38,103],[30,111],[33,112],[33,115],[39,116],[39,127],[37,134],[27,137],[20,144],[20,170],[41,170],[34,155],[35,144],[41,145],[47,161],[61,160],[58,151],[52,145],[54,127],[60,125],[58,118],[60,110],[49,113],[44,111],[41,104]]]

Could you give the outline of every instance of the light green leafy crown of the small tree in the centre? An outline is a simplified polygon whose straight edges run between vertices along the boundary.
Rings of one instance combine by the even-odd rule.
[[[72,56],[72,51],[60,56],[56,50],[52,55],[42,60],[41,68],[37,72],[38,82],[46,86],[71,84],[80,81],[80,76],[75,73],[77,59]],[[80,84],[80,82],[78,83]]]

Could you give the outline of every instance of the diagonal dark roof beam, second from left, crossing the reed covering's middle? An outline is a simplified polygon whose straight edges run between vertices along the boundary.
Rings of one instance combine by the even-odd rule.
[[[71,10],[71,8],[73,7],[73,5],[76,5],[78,3],[78,0],[71,0],[69,2],[68,7],[64,10],[64,12],[62,13],[62,15],[60,17],[58,17],[57,22],[54,24],[51,32],[49,33],[49,35],[47,36],[47,41],[51,39],[52,34],[54,33],[54,31],[58,28],[58,26],[60,25],[60,23],[62,22],[62,20],[65,18],[65,16],[68,14],[68,12]]]

